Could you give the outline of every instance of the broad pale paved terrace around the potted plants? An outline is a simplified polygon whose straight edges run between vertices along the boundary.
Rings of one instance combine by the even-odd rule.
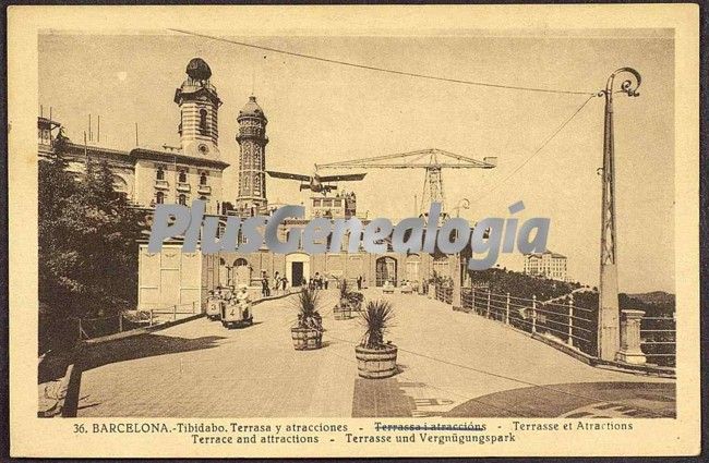
[[[365,296],[382,297],[378,290]],[[666,416],[674,382],[588,366],[528,334],[419,295],[394,294],[401,373],[357,376],[358,318],[333,319],[324,348],[296,352],[295,297],[254,307],[255,325],[197,319],[106,343],[86,358],[79,416]],[[603,412],[605,411],[605,412]],[[579,415],[580,414],[580,415]]]

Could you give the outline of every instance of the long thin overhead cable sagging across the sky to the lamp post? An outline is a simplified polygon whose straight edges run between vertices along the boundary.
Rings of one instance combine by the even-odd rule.
[[[272,51],[274,53],[281,53],[281,54],[288,54],[291,57],[298,57],[298,58],[305,58],[309,60],[314,60],[314,61],[321,61],[325,63],[331,63],[331,64],[340,64],[349,68],[359,68],[359,69],[364,69],[369,71],[377,71],[377,72],[384,72],[388,74],[396,74],[396,75],[406,75],[409,77],[418,77],[418,78],[428,78],[431,81],[441,81],[441,82],[448,82],[448,83],[454,83],[454,84],[465,84],[465,85],[474,85],[474,86],[480,86],[480,87],[492,87],[492,88],[504,88],[508,90],[521,90],[521,92],[537,92],[537,93],[546,93],[546,94],[562,94],[562,95],[596,95],[598,92],[582,92],[582,90],[562,90],[562,89],[552,89],[552,88],[539,88],[539,87],[526,87],[526,86],[520,86],[520,85],[504,85],[504,84],[492,84],[489,82],[478,82],[478,81],[465,81],[460,78],[450,78],[450,77],[441,77],[436,75],[430,75],[430,74],[420,74],[416,72],[406,72],[406,71],[397,71],[393,69],[387,69],[387,68],[378,68],[378,66],[373,66],[373,65],[368,65],[368,64],[358,64],[358,63],[351,63],[348,61],[341,61],[341,60],[335,60],[335,59],[329,59],[329,58],[323,58],[323,57],[316,57],[314,54],[305,54],[305,53],[298,53],[295,51],[288,51],[288,50],[281,50],[277,48],[272,48],[272,47],[265,47],[261,45],[255,45],[255,44],[249,44],[245,41],[239,41],[239,40],[233,40],[233,39],[228,39],[224,37],[217,37],[217,36],[212,36],[207,34],[200,34],[191,31],[184,31],[184,29],[175,29],[175,28],[168,28],[168,31],[176,32],[179,34],[185,34],[185,35],[191,35],[194,37],[202,37],[202,38],[208,38],[212,40],[218,40],[218,41],[225,41],[227,44],[232,44],[232,45],[238,45],[241,47],[248,47],[248,48],[255,48],[259,50],[264,50],[264,51]]]

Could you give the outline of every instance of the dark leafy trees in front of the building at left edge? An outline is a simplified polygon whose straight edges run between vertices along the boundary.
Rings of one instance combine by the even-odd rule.
[[[105,160],[87,159],[84,172],[70,172],[67,144],[60,134],[52,157],[39,161],[40,349],[75,338],[76,317],[136,302],[142,216],[115,190]]]

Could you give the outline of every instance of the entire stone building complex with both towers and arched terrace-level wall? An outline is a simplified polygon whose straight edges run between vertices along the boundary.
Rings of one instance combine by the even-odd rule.
[[[251,96],[237,117],[239,182],[236,187],[224,185],[224,171],[229,167],[220,157],[218,111],[221,100],[212,84],[212,71],[200,58],[187,66],[187,78],[175,93],[180,109],[178,133],[180,146],[164,145],[160,149],[137,146],[129,151],[100,146],[88,139],[69,143],[67,158],[70,169],[81,172],[87,159],[106,160],[115,173],[116,187],[130,200],[149,210],[157,204],[191,205],[205,200],[206,214],[226,222],[229,215],[240,217],[265,216],[273,212],[266,195],[266,125],[263,109]],[[61,125],[51,119],[38,119],[39,156],[52,153],[52,141]],[[233,195],[233,196],[231,196]],[[233,202],[233,208],[224,207]],[[295,202],[297,203],[297,202]],[[292,202],[291,202],[292,204]],[[315,195],[310,198],[310,217],[358,217],[357,195],[343,192]],[[293,227],[304,227],[309,218],[287,220],[280,234],[286,240]],[[362,224],[369,223],[360,216]],[[300,285],[315,275],[331,282],[348,280],[354,284],[361,277],[365,285],[383,285],[385,281],[398,285],[404,280],[421,282],[433,276],[449,275],[452,257],[421,253],[401,255],[393,252],[368,254],[347,251],[347,240],[338,253],[309,255],[302,251],[287,255],[272,253],[265,247],[255,253],[220,253],[202,255],[182,253],[181,240],[166,242],[163,252],[151,254],[147,244],[140,243],[139,308],[166,308],[199,303],[204,306],[207,291],[216,287],[248,284],[256,291],[265,275],[269,284],[278,272],[288,285]]]

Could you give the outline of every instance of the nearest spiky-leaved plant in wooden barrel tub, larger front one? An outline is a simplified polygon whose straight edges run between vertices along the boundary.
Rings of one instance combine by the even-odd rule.
[[[396,345],[384,342],[394,319],[394,309],[388,301],[370,301],[362,313],[365,331],[362,341],[354,348],[357,370],[362,378],[376,379],[394,376],[396,368]]]

